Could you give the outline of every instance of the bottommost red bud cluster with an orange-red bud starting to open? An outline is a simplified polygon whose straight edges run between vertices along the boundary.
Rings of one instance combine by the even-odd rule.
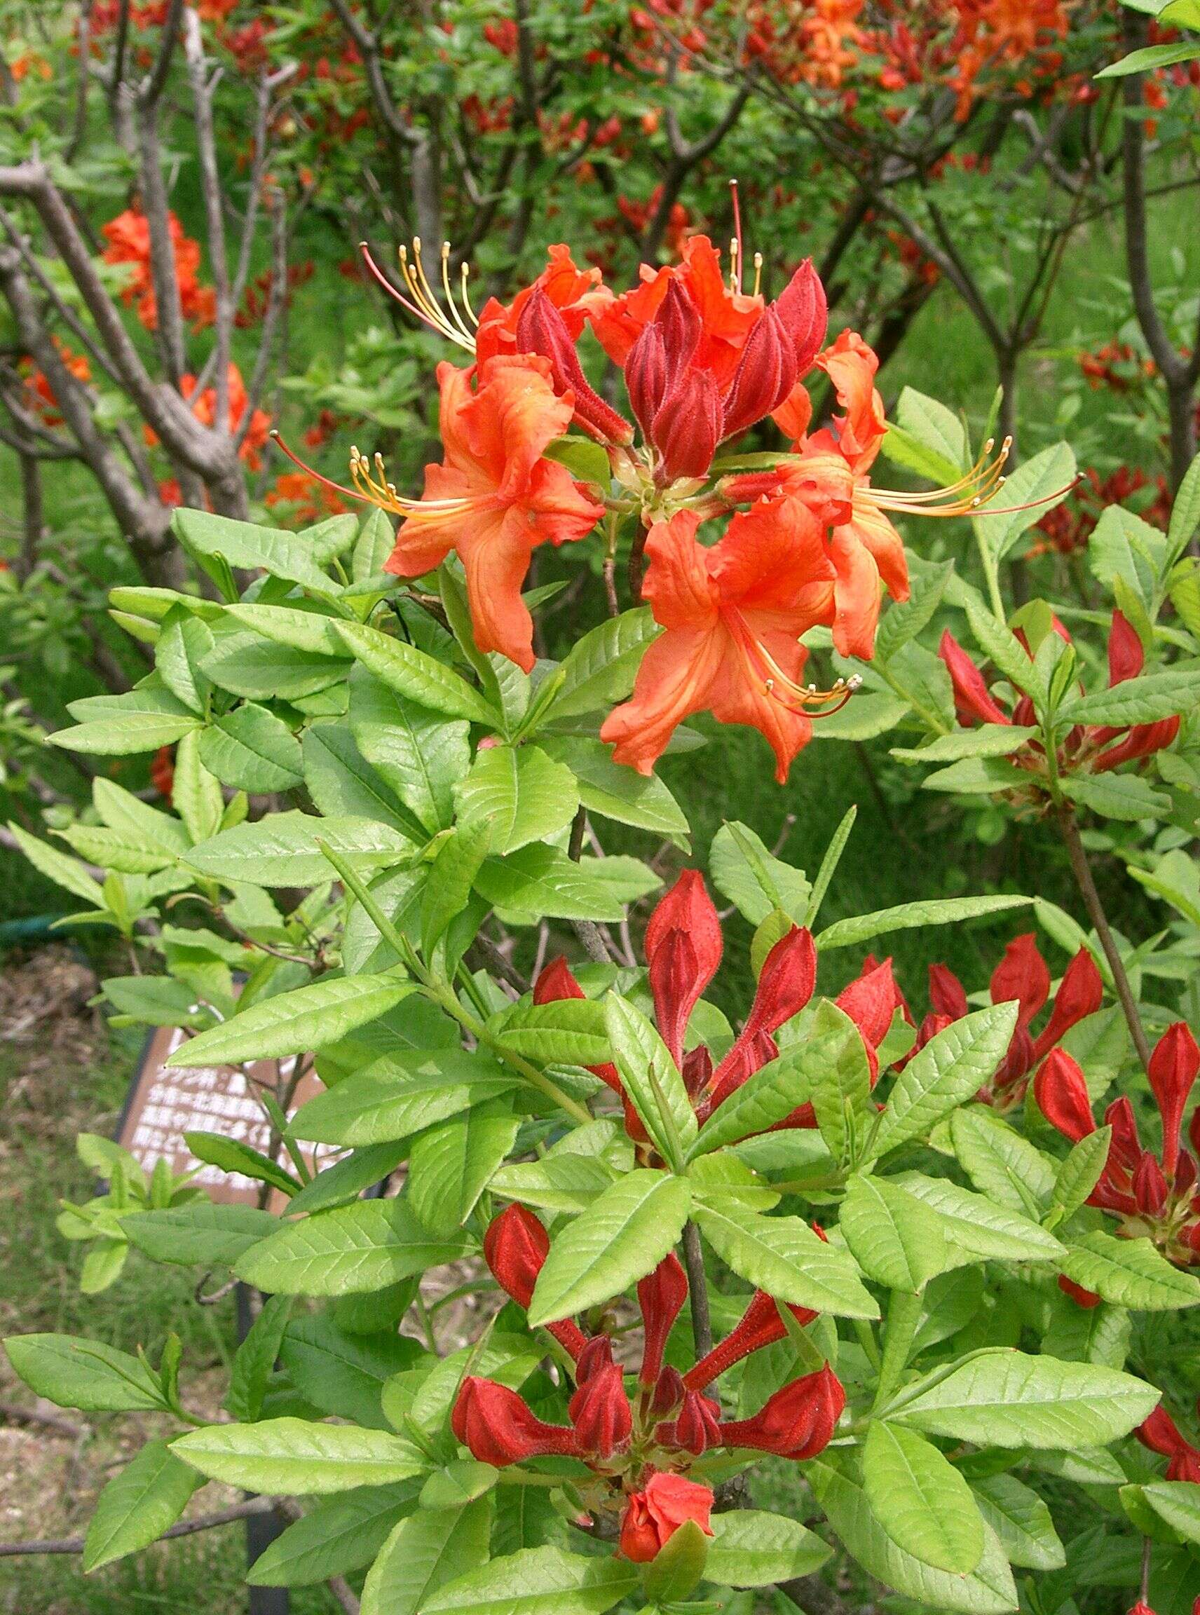
[[[496,1282],[525,1308],[548,1252],[543,1223],[518,1203],[502,1211],[485,1237]],[[455,1437],[496,1468],[539,1457],[578,1458],[591,1471],[578,1489],[593,1520],[619,1521],[620,1550],[635,1562],[654,1558],[685,1520],[712,1534],[712,1491],[682,1471],[712,1447],[812,1458],[829,1444],[846,1399],[825,1365],[783,1386],[751,1418],[722,1418],[706,1387],[751,1352],[782,1340],[787,1326],[777,1303],[756,1292],[733,1332],[680,1374],[664,1358],[686,1300],[688,1279],[675,1255],[638,1284],[644,1344],[633,1400],[610,1337],[585,1336],[564,1319],[548,1328],[573,1363],[570,1423],[548,1424],[515,1391],[468,1376],[451,1415]],[[798,1307],[791,1311],[799,1323],[814,1318]]]

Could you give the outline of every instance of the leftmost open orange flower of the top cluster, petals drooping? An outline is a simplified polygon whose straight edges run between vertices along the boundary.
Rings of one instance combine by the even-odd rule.
[[[384,568],[415,578],[457,551],[476,646],[527,672],[535,662],[533,619],[520,586],[530,556],[548,539],[585,538],[604,515],[564,465],[543,459],[573,409],[570,394],[554,396],[549,373],[544,359],[499,357],[472,392],[470,370],[438,365],[446,460],[425,467],[420,502],[391,504],[407,518]]]

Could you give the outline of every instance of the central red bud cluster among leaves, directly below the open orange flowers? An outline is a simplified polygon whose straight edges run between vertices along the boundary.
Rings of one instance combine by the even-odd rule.
[[[774,1034],[812,998],[817,980],[812,935],[804,927],[793,925],[767,953],[745,1026],[715,1066],[707,1045],[696,1043],[686,1051],[683,1045],[691,1011],[717,974],[724,951],[720,917],[698,870],[685,869],[654,909],[644,948],[659,1035],[680,1069],[698,1121],[704,1122],[748,1077],[778,1055]],[[546,966],[533,988],[533,1001],[539,1005],[583,996],[583,988],[562,958]],[[837,998],[838,1008],[859,1029],[872,1080],[879,1076],[875,1050],[901,1001],[890,959],[883,964],[871,961]],[[622,1087],[617,1068],[604,1064],[590,1069],[620,1097],[628,1135],[646,1160],[654,1163],[657,1158],[646,1129]],[[777,1122],[777,1127],[812,1126],[816,1116],[808,1103]]]

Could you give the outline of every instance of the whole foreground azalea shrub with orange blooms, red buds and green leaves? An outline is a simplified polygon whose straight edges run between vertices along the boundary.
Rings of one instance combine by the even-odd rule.
[[[1097,528],[1106,612],[1013,612],[1000,562],[1069,452],[1001,486],[1005,449],[938,401],[892,423],[812,265],[764,287],[743,257],[694,234],[614,286],[556,247],[476,320],[420,247],[368,254],[457,349],[423,483],[287,447],[289,496],[346,509],[289,533],[181,507],[210,586],[113,594],[153,667],[53,740],[153,759],[158,799],[99,774],[55,840],[11,833],[134,950],[115,1017],[179,1029],[174,1068],[278,1080],[268,1150],[189,1135],[257,1206],[107,1145],[107,1189],[63,1211],[89,1289],[134,1248],[255,1297],[220,1416],[178,1344],[6,1342],[52,1402],[165,1415],[99,1499],[89,1570],[223,1483],[302,1499],[254,1583],[331,1581],[367,1615],[871,1586],[1000,1615],[1090,1575],[1063,1515],[1085,1486],[1121,1597],[1185,1615],[1197,1449],[1147,1342],[1200,1302],[1194,954],[1114,935],[1080,822],[1156,820],[1163,861],[1194,828],[1200,646],[1156,623],[1200,473],[1171,533]],[[275,452],[241,371],[224,391]],[[220,418],[215,383],[181,394]],[[308,446],[339,436],[318,415]],[[974,523],[987,593],[922,554],[930,517]],[[560,659],[531,577],[554,551],[607,606]],[[853,808],[811,875],[740,820],[699,858],[657,764],[703,767],[714,724],[757,730],[780,785],[819,770],[822,725],[895,730],[929,785],[1061,833],[1087,924],[1016,890],[830,919]],[[1189,901],[1177,864],[1134,867]],[[937,959],[979,919],[1008,938],[987,984]],[[914,929],[916,1011],[867,951]]]

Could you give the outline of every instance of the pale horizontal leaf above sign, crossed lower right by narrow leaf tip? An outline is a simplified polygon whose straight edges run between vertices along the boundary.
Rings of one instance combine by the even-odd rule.
[[[307,812],[273,812],[202,841],[186,862],[213,880],[247,880],[258,887],[318,887],[333,877],[323,841],[357,872],[401,862],[412,841],[378,819],[318,819]]]

